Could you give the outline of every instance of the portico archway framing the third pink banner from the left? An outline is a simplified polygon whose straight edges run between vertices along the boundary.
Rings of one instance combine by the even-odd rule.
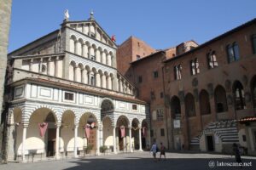
[[[119,119],[117,121],[117,127],[118,127],[118,149],[125,151],[127,150],[127,142],[129,136],[127,136],[127,128],[129,127],[129,120],[126,116],[119,116]]]

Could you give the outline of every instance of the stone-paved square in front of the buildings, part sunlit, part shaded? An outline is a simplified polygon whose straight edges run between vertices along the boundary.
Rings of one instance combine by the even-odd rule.
[[[159,155],[158,155],[159,157]],[[217,162],[218,161],[218,162]],[[250,167],[217,167],[220,162],[234,162],[234,156],[191,154],[191,153],[166,153],[166,161],[153,161],[149,152],[135,152],[109,156],[88,156],[78,159],[64,159],[59,161],[39,161],[32,163],[9,163],[0,165],[1,170],[187,170],[187,169],[256,169],[256,157],[242,157],[243,162],[248,162]],[[209,162],[214,167],[209,167]]]

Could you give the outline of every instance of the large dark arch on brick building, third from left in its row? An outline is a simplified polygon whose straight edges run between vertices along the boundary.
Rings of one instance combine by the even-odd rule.
[[[207,90],[201,90],[201,93],[199,94],[199,102],[201,115],[211,114],[211,105]]]

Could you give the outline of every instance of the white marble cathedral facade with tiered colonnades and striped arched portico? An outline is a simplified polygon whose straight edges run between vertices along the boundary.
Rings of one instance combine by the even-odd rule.
[[[9,54],[9,161],[99,155],[150,145],[148,105],[116,65],[90,14]],[[147,132],[148,131],[148,132]]]

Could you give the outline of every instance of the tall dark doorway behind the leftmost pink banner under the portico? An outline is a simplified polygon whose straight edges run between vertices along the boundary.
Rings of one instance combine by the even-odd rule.
[[[48,129],[48,139],[47,139],[47,156],[55,156],[55,138],[56,129]]]

